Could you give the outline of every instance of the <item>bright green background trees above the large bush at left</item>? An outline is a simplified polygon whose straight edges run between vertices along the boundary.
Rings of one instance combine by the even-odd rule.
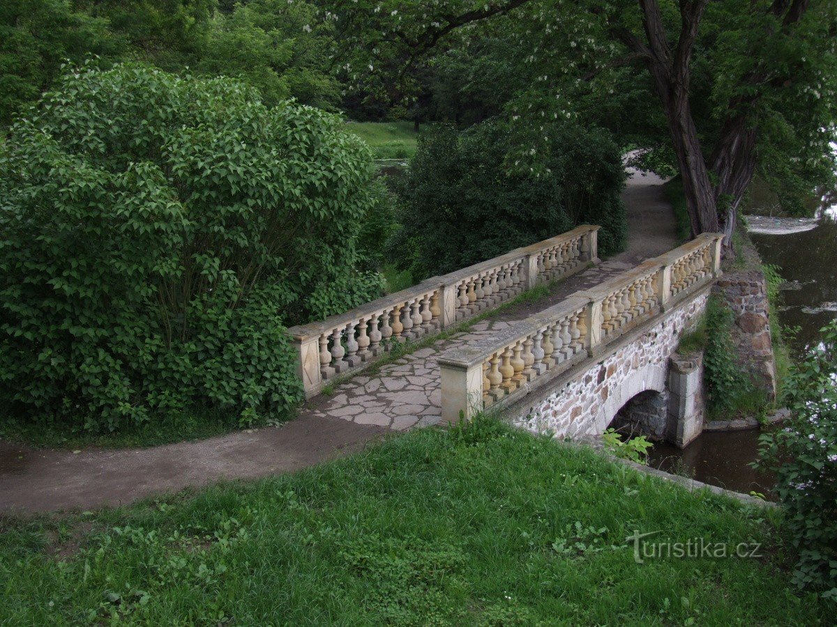
[[[305,0],[2,0],[0,124],[49,89],[65,60],[135,60],[232,76],[265,104],[295,97],[332,108],[340,87],[326,56],[333,28]]]

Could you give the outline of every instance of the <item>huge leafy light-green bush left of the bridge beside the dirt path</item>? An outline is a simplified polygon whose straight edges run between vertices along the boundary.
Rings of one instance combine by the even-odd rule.
[[[114,430],[300,396],[285,324],[377,296],[339,119],[228,79],[73,69],[0,146],[0,402]]]

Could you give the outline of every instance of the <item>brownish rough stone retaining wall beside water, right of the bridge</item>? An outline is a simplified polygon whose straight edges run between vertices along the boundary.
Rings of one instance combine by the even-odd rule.
[[[712,288],[732,310],[732,343],[737,364],[763,385],[768,394],[776,394],[776,363],[770,339],[768,283],[758,270],[724,274]]]

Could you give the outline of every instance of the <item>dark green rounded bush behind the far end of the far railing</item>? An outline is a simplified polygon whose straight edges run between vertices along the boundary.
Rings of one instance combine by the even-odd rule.
[[[447,273],[568,231],[602,226],[599,251],[624,246],[619,148],[601,130],[555,122],[538,131],[548,148],[537,170],[514,160],[521,137],[489,120],[442,127],[419,140],[399,185],[403,232],[393,247],[416,278]]]

